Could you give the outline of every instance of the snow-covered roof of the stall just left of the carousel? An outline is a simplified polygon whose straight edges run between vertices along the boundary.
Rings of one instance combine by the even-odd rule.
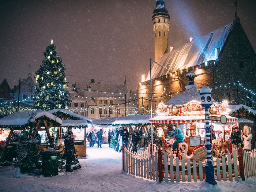
[[[112,125],[144,125],[148,124],[151,115],[149,114],[136,114],[136,115],[128,115],[124,117],[119,117],[116,121],[112,123]]]

